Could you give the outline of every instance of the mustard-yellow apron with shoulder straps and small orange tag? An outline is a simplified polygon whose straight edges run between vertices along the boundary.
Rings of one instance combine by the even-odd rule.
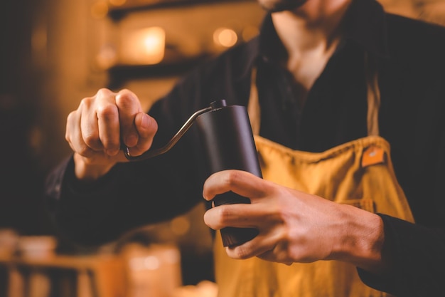
[[[369,66],[368,66],[369,70]],[[390,145],[378,136],[380,93],[377,71],[368,77],[368,137],[320,153],[291,150],[257,136],[259,104],[252,73],[249,113],[264,179],[414,222],[390,160]],[[220,234],[214,242],[215,278],[220,297],[375,297],[390,296],[366,286],[355,266],[341,261],[317,261],[291,266],[231,259]]]

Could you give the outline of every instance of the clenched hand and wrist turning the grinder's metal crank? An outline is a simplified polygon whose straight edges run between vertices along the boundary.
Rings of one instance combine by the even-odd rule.
[[[106,174],[117,162],[126,162],[121,145],[130,155],[149,150],[158,125],[141,108],[139,98],[129,90],[114,93],[100,89],[83,98],[77,110],[68,115],[65,139],[75,152],[78,179],[94,180]]]

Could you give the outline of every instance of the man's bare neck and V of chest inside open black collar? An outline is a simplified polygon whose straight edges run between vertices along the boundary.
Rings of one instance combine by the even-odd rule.
[[[272,14],[288,53],[282,62],[294,76],[301,106],[341,40],[341,20],[351,1],[308,0],[294,11]]]

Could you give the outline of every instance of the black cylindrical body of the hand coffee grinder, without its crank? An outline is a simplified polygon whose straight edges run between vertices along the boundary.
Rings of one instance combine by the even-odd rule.
[[[247,110],[241,105],[225,105],[225,100],[212,103],[212,110],[195,120],[206,154],[210,174],[222,170],[243,170],[262,177]],[[215,207],[222,204],[250,203],[250,199],[234,192],[217,195]],[[257,236],[252,228],[226,227],[221,231],[224,246],[237,246]]]

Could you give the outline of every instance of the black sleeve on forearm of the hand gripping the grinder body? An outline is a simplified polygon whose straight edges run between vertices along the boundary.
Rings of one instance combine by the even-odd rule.
[[[445,279],[445,231],[427,228],[380,214],[385,225],[385,246],[393,271],[376,276],[358,269],[362,281],[395,296],[440,296]]]

